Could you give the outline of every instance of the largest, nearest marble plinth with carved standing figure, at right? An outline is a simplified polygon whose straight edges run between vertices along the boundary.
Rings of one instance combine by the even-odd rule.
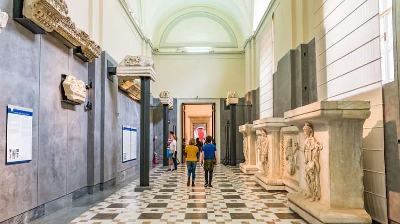
[[[310,223],[371,223],[364,208],[363,124],[369,101],[318,101],[285,113],[297,126],[298,193],[288,205]]]

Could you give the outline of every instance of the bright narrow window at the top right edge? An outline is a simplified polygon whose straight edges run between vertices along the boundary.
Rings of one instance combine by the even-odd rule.
[[[382,84],[394,81],[392,0],[379,0]]]

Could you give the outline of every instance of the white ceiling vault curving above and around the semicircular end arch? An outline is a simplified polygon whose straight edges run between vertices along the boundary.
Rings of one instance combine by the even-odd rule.
[[[141,25],[144,27],[143,32],[145,36],[153,42],[154,46],[157,46],[160,43],[164,31],[169,25],[165,24],[166,20],[171,23],[179,16],[182,16],[183,13],[186,14],[190,12],[210,13],[224,20],[235,35],[237,46],[239,48],[242,48],[244,41],[252,34],[252,7],[254,0],[125,1],[130,5],[137,5],[138,2],[141,5],[143,18]],[[202,8],[202,10],[198,10],[199,7]],[[212,21],[209,22],[212,23]],[[222,28],[224,28],[224,26],[222,26]]]

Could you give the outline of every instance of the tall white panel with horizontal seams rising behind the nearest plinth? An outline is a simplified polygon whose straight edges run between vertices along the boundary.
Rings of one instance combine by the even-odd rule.
[[[387,223],[378,1],[316,0],[318,100],[370,100],[364,124],[365,206]]]

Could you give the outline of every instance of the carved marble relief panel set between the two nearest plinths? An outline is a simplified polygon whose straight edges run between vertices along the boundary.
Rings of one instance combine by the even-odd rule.
[[[303,154],[298,150],[298,129],[296,126],[281,128],[281,173],[286,191],[299,191],[300,163]]]

